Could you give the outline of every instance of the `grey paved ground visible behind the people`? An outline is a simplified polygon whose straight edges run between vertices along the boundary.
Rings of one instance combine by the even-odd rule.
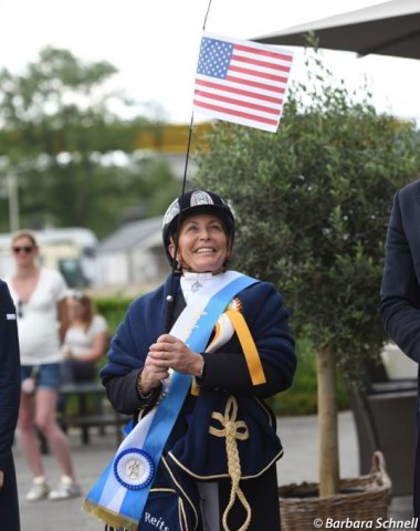
[[[94,433],[94,430],[92,430]],[[279,420],[285,456],[279,462],[280,485],[317,479],[317,424],[316,417],[286,417]],[[356,435],[350,413],[339,415],[339,444],[342,477],[357,477],[358,457]],[[82,446],[78,435],[71,435],[75,468],[82,488],[87,491],[98,473],[105,468],[115,451],[115,435],[109,430],[101,437],[94,434],[90,446]],[[29,503],[24,492],[30,487],[30,475],[18,448],[15,449],[18,482],[21,494],[22,531],[103,531],[103,525],[85,516],[81,499],[62,502],[40,501]],[[45,458],[51,483],[59,480],[60,472],[52,457]],[[390,516],[396,520],[411,518],[411,500],[399,498],[392,501]],[[407,529],[407,528],[406,528]],[[0,530],[1,531],[1,530]],[[263,531],[263,530],[262,530]]]

